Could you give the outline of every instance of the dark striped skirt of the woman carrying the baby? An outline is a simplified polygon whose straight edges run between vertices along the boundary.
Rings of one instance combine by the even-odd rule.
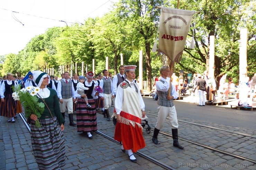
[[[76,106],[77,132],[97,131],[97,115],[93,99],[88,99],[91,108],[86,107],[83,98],[78,99]]]

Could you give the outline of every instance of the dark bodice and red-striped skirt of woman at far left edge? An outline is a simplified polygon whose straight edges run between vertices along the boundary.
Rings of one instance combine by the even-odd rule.
[[[0,116],[7,118],[14,117],[16,115],[17,101],[12,98],[11,93],[4,93],[4,102],[0,105]]]

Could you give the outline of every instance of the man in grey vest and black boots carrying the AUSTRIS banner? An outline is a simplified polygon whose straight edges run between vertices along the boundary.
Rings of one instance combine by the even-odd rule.
[[[168,117],[172,126],[173,146],[184,149],[184,147],[178,142],[178,120],[176,109],[173,104],[173,99],[177,99],[178,93],[173,84],[170,82],[170,77],[172,76],[173,71],[170,71],[168,66],[162,66],[160,68],[160,73],[162,74],[162,78],[156,82],[156,90],[158,94],[158,117],[152,141],[155,144],[160,144],[160,142],[157,140],[157,136],[160,129],[163,127],[165,119]],[[169,88],[171,88],[170,95],[168,95]]]

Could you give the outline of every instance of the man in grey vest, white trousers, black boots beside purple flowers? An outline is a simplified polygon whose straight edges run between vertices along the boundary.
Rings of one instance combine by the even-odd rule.
[[[107,116],[107,121],[110,121],[110,117],[109,117],[109,108],[111,107],[111,99],[113,99],[114,93],[112,91],[112,81],[110,78],[108,78],[108,70],[104,69],[102,71],[103,73],[103,97],[104,97],[104,112],[103,115],[104,117]]]

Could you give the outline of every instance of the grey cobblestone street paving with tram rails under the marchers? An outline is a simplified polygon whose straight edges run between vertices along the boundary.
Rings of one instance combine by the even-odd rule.
[[[110,108],[112,114],[113,107]],[[146,111],[152,115],[147,115],[149,124],[154,129],[156,123],[156,112]],[[75,116],[74,116],[75,117]],[[178,118],[185,121],[205,124],[216,128],[239,131],[256,136],[255,129],[245,129],[242,127],[229,127],[216,123],[198,121],[188,118]],[[113,137],[115,126],[112,121],[108,122],[102,114],[97,113],[98,131]],[[161,129],[166,133],[171,133],[170,122],[166,120]],[[120,150],[120,145],[112,142],[100,134],[92,133],[93,139],[88,139],[87,134],[76,131],[76,127],[68,125],[68,118],[65,123],[65,146],[66,165],[64,170],[75,169],[138,169],[138,170],[158,170],[163,169],[156,164],[138,156],[137,163],[132,163],[128,154]],[[250,169],[256,170],[256,165],[249,161],[240,160],[218,152],[205,149],[186,141],[180,140],[185,146],[184,150],[172,146],[172,139],[159,134],[161,144],[152,143],[151,133],[146,133],[143,129],[146,147],[139,150],[150,157],[153,157],[178,170],[184,169]],[[233,152],[244,157],[256,160],[256,139],[243,137],[223,131],[209,128],[197,127],[188,123],[179,122],[179,136],[203,144],[217,147],[222,150]],[[22,122],[20,116],[15,123],[7,123],[7,118],[0,117],[0,169],[1,170],[37,170],[37,163],[31,149],[30,133]]]

